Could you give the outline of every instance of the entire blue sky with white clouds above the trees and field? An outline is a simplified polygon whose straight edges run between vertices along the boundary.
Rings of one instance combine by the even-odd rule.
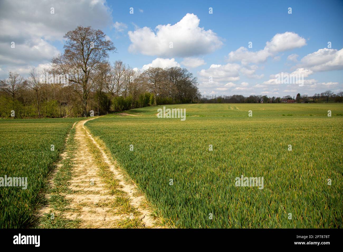
[[[32,66],[47,66],[63,51],[64,33],[92,25],[118,48],[110,61],[120,59],[138,71],[148,64],[186,67],[198,77],[204,95],[282,97],[343,90],[343,1],[37,1],[39,7],[19,4],[26,17],[19,17],[19,2],[1,4],[0,24],[7,29],[0,41],[0,77],[8,70],[25,75]],[[69,12],[78,13],[73,19]],[[27,53],[8,52],[5,39],[17,40],[18,47],[25,41]],[[304,85],[275,83],[281,72],[304,74]]]

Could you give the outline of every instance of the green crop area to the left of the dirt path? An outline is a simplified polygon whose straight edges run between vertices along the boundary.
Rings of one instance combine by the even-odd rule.
[[[0,177],[23,178],[22,187],[0,187],[1,228],[23,228],[33,223],[36,208],[44,200],[49,172],[78,120],[0,120]]]

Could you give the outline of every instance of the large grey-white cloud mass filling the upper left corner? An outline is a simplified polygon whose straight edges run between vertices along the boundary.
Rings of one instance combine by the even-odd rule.
[[[50,13],[54,7],[55,14]],[[58,53],[54,41],[77,25],[101,29],[112,24],[111,10],[105,0],[78,2],[1,1],[0,7],[0,78],[8,71],[24,74],[32,66],[51,61]],[[15,48],[11,48],[11,42]]]

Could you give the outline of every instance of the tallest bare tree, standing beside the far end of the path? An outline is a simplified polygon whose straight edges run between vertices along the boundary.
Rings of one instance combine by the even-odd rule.
[[[100,64],[108,58],[109,51],[116,51],[112,41],[91,26],[78,26],[64,35],[67,39],[63,55],[52,58],[55,74],[68,74],[68,81],[80,95],[82,110],[87,115],[87,101],[92,84],[90,81]]]

